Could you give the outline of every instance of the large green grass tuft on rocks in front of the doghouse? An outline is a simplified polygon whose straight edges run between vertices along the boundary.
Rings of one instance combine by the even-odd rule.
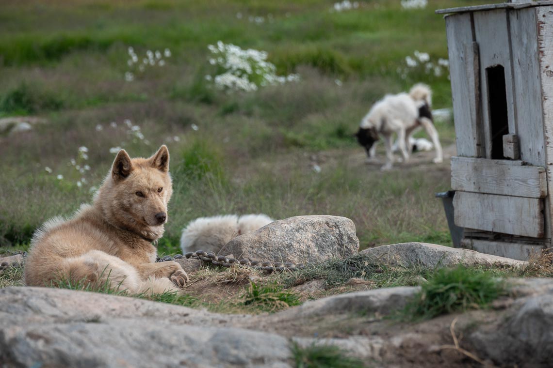
[[[494,278],[490,271],[464,266],[440,269],[421,287],[402,312],[404,318],[418,321],[484,308],[507,294],[505,281]]]

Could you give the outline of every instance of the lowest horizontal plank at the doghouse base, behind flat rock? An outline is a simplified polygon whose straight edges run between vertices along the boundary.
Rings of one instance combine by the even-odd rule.
[[[538,244],[491,242],[480,239],[465,238],[461,241],[461,248],[476,250],[480,253],[499,255],[512,259],[528,260],[540,254],[545,246]]]

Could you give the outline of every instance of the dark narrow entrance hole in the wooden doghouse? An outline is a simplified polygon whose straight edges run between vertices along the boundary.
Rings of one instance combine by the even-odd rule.
[[[503,135],[509,134],[505,68],[502,65],[486,68],[486,79],[488,82],[489,122],[492,138],[491,158],[503,159]]]

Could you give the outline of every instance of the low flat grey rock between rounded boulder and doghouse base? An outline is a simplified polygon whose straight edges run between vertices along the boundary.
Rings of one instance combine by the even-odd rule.
[[[475,250],[450,248],[428,243],[400,243],[362,250],[359,254],[387,264],[402,266],[453,266],[463,264],[523,266],[526,262],[516,259],[499,257],[497,255],[478,253]]]

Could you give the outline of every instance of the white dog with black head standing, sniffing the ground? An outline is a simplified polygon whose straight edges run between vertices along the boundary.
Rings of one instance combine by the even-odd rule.
[[[410,137],[422,126],[436,148],[434,162],[444,161],[440,139],[432,121],[431,105],[430,88],[421,83],[415,84],[409,93],[386,95],[361,120],[356,134],[359,144],[365,148],[369,158],[373,157],[374,143],[382,135],[386,146],[386,163],[382,169],[390,169],[394,160],[393,134],[397,134],[399,150],[404,160],[408,161],[412,147]]]

